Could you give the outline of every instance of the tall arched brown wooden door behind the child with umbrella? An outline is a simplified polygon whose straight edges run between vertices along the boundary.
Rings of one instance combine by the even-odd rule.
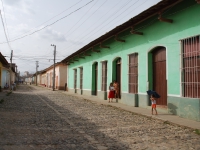
[[[153,51],[153,90],[160,95],[157,105],[167,105],[166,49],[164,47]]]

